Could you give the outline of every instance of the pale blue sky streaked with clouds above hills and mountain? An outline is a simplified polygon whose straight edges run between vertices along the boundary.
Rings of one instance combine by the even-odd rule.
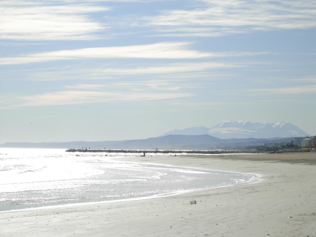
[[[0,144],[222,121],[316,135],[316,1],[1,0]]]

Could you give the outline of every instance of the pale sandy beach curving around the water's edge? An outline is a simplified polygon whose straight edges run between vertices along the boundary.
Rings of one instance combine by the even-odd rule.
[[[0,213],[0,236],[316,237],[316,153],[120,160],[252,173],[258,178],[247,185],[162,198]]]

